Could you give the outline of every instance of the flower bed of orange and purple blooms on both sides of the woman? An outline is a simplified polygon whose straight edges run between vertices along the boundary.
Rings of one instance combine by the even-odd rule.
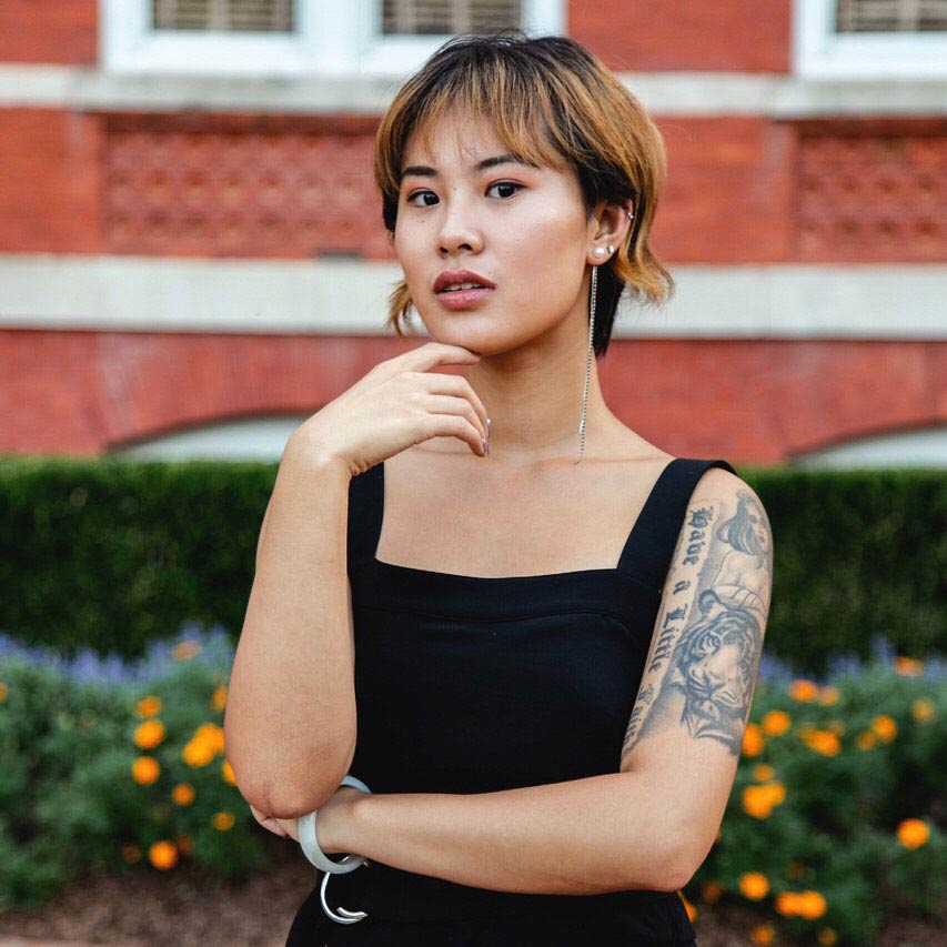
[[[0,910],[85,870],[241,881],[268,864],[233,782],[223,712],[233,649],[185,626],[140,662],[67,659],[0,637]],[[755,944],[876,943],[934,916],[945,885],[945,668],[833,662],[824,681],[764,659],[723,826],[683,896],[749,906]]]

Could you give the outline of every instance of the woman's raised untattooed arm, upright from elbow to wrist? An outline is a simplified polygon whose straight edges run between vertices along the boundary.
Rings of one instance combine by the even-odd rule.
[[[243,797],[276,817],[319,808],[354,755],[350,477],[294,434],[261,528],[224,742]]]

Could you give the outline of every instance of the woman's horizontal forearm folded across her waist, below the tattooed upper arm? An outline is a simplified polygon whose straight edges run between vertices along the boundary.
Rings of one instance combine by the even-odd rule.
[[[631,773],[476,795],[353,798],[338,850],[478,888],[677,890],[668,807]]]

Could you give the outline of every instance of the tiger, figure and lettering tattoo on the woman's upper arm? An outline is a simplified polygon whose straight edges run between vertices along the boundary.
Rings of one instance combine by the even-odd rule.
[[[681,725],[739,755],[769,612],[773,542],[755,496],[738,491],[731,513],[722,501],[687,511],[623,762],[639,741]]]

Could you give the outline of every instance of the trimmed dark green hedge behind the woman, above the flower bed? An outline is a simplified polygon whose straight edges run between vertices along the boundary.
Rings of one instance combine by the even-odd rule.
[[[0,461],[0,631],[124,657],[183,622],[240,633],[274,463]],[[936,469],[738,469],[774,533],[766,651],[945,651],[947,477]]]

